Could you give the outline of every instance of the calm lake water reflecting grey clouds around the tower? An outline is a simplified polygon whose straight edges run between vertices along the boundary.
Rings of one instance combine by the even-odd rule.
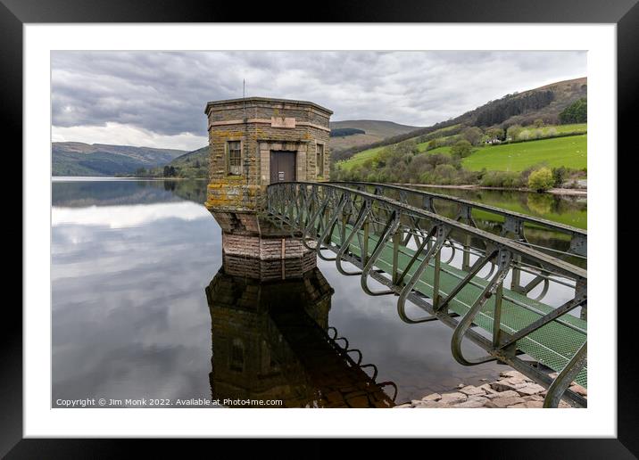
[[[254,381],[254,373],[230,381],[224,374],[236,351],[222,348],[220,338],[229,330],[220,317],[212,320],[212,304],[236,301],[226,294],[222,299],[220,286],[230,283],[228,292],[236,293],[249,289],[237,277],[215,278],[222,266],[221,234],[203,207],[205,190],[204,181],[54,181],[54,407],[61,398],[212,398],[229,385],[250,390],[263,383]],[[537,206],[546,218],[585,226],[585,200],[551,197],[540,204],[526,193],[481,195],[489,196],[490,204],[520,211]],[[473,199],[469,193],[465,197]],[[339,275],[334,264],[322,260],[318,267],[318,277],[335,291],[321,321],[350,348],[361,350],[362,364],[377,366],[378,382],[396,384],[397,403],[452,390],[460,382],[481,383],[506,369],[494,363],[459,365],[451,355],[448,327],[404,324],[394,297],[369,297],[359,277]],[[210,284],[218,288],[209,290],[207,300]],[[276,324],[281,321],[276,318]],[[264,324],[249,326],[266,328],[266,335],[256,330],[255,337],[268,337],[270,323]],[[287,373],[286,382],[296,382],[298,367],[275,362],[272,349],[264,365],[263,349],[273,344],[259,347],[262,351],[244,349],[242,359],[279,369]],[[296,347],[294,352],[303,343]],[[468,352],[481,353],[473,345]]]

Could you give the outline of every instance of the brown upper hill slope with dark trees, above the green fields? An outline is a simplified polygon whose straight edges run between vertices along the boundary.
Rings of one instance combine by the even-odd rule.
[[[386,137],[370,144],[360,143],[344,149],[334,150],[331,160],[346,160],[357,152],[397,144],[413,137],[428,135],[436,130],[456,125],[461,127],[507,128],[516,124],[522,126],[531,125],[535,122],[535,119],[542,119],[547,125],[555,125],[559,123],[560,111],[563,111],[568,105],[578,99],[587,97],[587,86],[588,80],[583,77],[558,81],[521,93],[506,94],[500,99],[489,101],[477,107],[477,109],[467,111],[454,119],[441,121],[430,127],[421,127],[407,133]]]

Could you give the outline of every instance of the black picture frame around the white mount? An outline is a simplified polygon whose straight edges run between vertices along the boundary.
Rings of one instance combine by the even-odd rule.
[[[618,151],[633,154],[634,117],[637,111],[639,81],[639,4],[638,0],[410,0],[402,3],[350,1],[324,4],[312,13],[292,18],[300,12],[299,3],[251,3],[242,9],[234,3],[195,0],[0,0],[0,60],[2,65],[3,127],[6,136],[17,141],[14,152],[22,144],[22,26],[25,23],[78,22],[488,22],[488,23],[614,23],[617,25],[618,65]],[[17,150],[20,149],[20,150]],[[618,242],[633,241],[629,222],[634,197],[630,191],[634,171],[622,155],[598,152],[605,160],[618,160]],[[625,168],[620,168],[621,160]],[[43,203],[46,206],[46,203]],[[626,220],[626,222],[624,222]],[[22,228],[9,229],[10,241],[22,236]],[[23,248],[28,241],[22,240]],[[602,242],[605,244],[605,242]],[[617,248],[610,246],[610,251]],[[627,257],[629,259],[629,257]],[[629,260],[618,257],[618,286],[610,286],[610,304],[591,308],[614,308],[618,317],[630,319],[635,314],[635,301],[629,295],[634,271]],[[624,269],[625,268],[625,269]],[[17,270],[16,270],[17,272]],[[621,288],[621,289],[619,289]],[[470,439],[428,440],[427,447],[451,448],[454,452],[469,449],[474,457],[488,458],[635,458],[639,455],[637,401],[639,386],[634,339],[636,321],[618,322],[618,438],[617,439]],[[111,457],[130,453],[132,440],[116,439],[22,439],[22,315],[15,303],[4,305],[3,346],[0,348],[3,377],[0,379],[0,455],[7,458],[70,458],[76,456]],[[495,437],[499,436],[495,427]],[[215,441],[226,448],[231,441]],[[237,442],[237,440],[236,440]],[[318,442],[317,440],[313,441]],[[426,442],[426,441],[423,441]],[[433,445],[437,442],[437,445]],[[253,443],[244,443],[243,449]],[[168,456],[165,442],[145,442],[145,454],[153,451]],[[366,449],[377,449],[369,443]],[[326,456],[334,448],[309,449],[309,456]],[[362,454],[364,453],[362,451]],[[371,450],[371,452],[375,452]],[[436,452],[436,450],[432,450]]]

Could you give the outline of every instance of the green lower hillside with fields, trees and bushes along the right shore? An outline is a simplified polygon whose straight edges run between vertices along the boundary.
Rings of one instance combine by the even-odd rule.
[[[397,184],[483,185],[547,190],[577,186],[587,171],[587,135],[472,145],[466,140],[420,152],[414,140],[370,149],[336,163],[331,178]],[[546,171],[534,173],[540,168]],[[540,176],[541,175],[541,176]],[[534,177],[545,177],[543,185]]]

